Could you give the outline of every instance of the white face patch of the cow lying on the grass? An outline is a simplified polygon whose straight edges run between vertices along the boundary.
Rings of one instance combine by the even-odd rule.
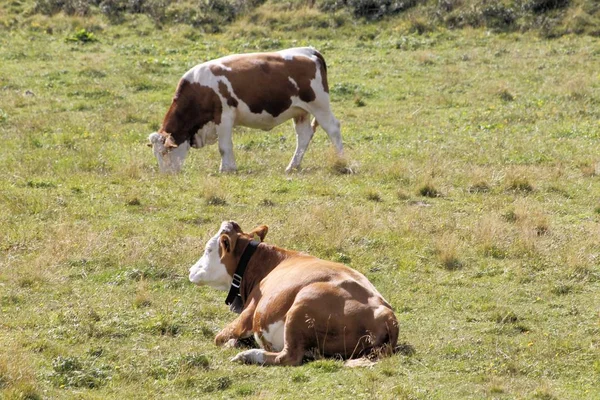
[[[223,222],[219,232],[206,243],[204,254],[190,268],[190,281],[196,285],[208,285],[219,290],[229,290],[232,278],[219,256],[219,238],[231,230],[231,223]]]

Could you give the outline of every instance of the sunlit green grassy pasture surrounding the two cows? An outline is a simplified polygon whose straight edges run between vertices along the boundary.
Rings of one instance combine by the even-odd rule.
[[[19,4],[0,6],[0,397],[600,398],[597,38],[304,27],[312,9],[203,34]],[[147,136],[183,72],[300,45],[328,62],[353,174],[323,131],[285,174],[291,123],[238,129],[236,174],[214,146],[158,174]],[[187,280],[225,219],[363,272],[404,350],[230,363],[225,293]]]

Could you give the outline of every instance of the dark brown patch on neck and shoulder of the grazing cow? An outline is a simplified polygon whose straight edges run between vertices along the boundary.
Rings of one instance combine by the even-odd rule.
[[[170,134],[177,145],[191,140],[204,125],[221,123],[223,106],[217,93],[208,86],[179,81],[173,102],[159,133]]]

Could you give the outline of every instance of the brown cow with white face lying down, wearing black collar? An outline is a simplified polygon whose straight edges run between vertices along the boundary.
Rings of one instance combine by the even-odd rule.
[[[396,346],[396,316],[363,274],[262,243],[266,234],[264,225],[244,233],[223,222],[190,268],[193,283],[229,290],[226,304],[240,313],[215,343],[233,346],[254,334],[261,347],[232,361],[298,365],[307,352],[355,358]]]

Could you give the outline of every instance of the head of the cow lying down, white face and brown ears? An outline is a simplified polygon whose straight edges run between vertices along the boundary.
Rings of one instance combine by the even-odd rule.
[[[206,243],[202,257],[190,268],[190,281],[196,285],[229,290],[246,244],[256,236],[262,242],[267,231],[268,227],[261,225],[244,233],[235,221],[224,221],[217,234]]]

